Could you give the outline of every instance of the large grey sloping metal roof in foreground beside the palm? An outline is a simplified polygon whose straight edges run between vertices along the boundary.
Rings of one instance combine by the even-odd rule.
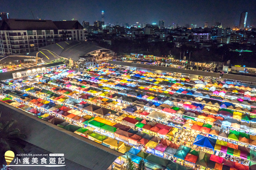
[[[65,158],[89,169],[107,169],[123,155],[8,104],[1,103],[0,107],[3,111],[1,120],[16,119],[27,142],[52,153],[63,153]]]

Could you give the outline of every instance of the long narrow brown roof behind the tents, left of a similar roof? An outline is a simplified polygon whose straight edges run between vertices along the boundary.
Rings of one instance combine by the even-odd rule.
[[[177,68],[172,68],[172,67],[163,67],[163,66],[138,64],[138,63],[128,63],[128,62],[120,62],[120,61],[112,61],[112,60],[108,61],[108,63],[116,64],[116,65],[130,66],[130,67],[140,67],[140,68],[145,68],[145,69],[163,70],[163,71],[168,71],[168,72],[177,72],[177,73],[193,74],[193,75],[199,75],[199,76],[208,76],[208,77],[214,77],[214,78],[220,77],[220,73],[213,73],[213,72],[206,72],[206,71],[177,69]]]

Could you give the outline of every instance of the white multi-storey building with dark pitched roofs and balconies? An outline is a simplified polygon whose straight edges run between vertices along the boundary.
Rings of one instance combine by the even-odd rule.
[[[0,23],[0,55],[27,55],[60,41],[84,40],[78,21],[8,19]]]

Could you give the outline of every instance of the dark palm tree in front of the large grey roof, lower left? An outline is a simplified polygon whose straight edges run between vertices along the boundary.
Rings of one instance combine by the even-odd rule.
[[[16,120],[10,120],[5,124],[0,122],[0,166],[6,164],[4,159],[4,153],[6,151],[13,151],[15,154],[17,151],[24,152],[25,147],[23,139],[25,135],[20,133],[18,128],[13,129],[12,125],[17,123]]]

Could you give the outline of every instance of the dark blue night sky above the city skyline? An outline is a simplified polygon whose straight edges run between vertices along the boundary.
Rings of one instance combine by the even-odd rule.
[[[105,11],[105,23],[135,24],[156,23],[164,20],[164,26],[178,26],[205,22],[214,25],[222,21],[224,27],[239,24],[242,11],[248,12],[246,26],[256,25],[256,5],[251,0],[1,0],[1,12],[9,12],[10,18],[71,20],[101,20]]]

